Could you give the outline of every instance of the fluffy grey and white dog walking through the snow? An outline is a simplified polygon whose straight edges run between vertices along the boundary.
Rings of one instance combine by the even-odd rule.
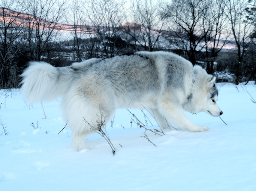
[[[173,124],[191,132],[208,127],[192,123],[183,109],[211,116],[223,113],[216,104],[216,77],[171,52],[139,51],[59,68],[30,62],[21,77],[21,91],[29,104],[61,97],[78,151],[94,132],[88,123],[97,124],[100,116],[106,116],[108,123],[117,108],[146,108],[162,128]]]

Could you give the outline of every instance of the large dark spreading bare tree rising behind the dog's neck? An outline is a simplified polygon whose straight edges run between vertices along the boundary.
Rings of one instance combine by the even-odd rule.
[[[203,19],[208,14],[210,4],[207,0],[172,0],[163,10],[163,16],[169,19],[169,29],[175,34],[175,41],[179,41],[181,49],[193,65],[196,64],[195,55],[204,48],[205,35]]]

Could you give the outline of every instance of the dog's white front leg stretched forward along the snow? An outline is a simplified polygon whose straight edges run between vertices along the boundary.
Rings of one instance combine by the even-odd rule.
[[[198,126],[192,123],[189,118],[184,114],[181,106],[170,103],[160,103],[159,112],[172,124],[187,129],[190,132],[207,131],[207,126]]]

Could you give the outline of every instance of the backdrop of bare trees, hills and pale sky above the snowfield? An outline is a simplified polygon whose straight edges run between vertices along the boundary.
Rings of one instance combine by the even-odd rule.
[[[172,51],[219,81],[256,82],[256,0],[0,0],[0,89],[31,60],[67,66]]]

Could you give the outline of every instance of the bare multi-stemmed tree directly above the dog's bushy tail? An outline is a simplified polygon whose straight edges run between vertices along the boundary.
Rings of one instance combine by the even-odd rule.
[[[25,25],[31,60],[48,59],[57,44],[58,25],[64,3],[58,0],[23,0]]]

